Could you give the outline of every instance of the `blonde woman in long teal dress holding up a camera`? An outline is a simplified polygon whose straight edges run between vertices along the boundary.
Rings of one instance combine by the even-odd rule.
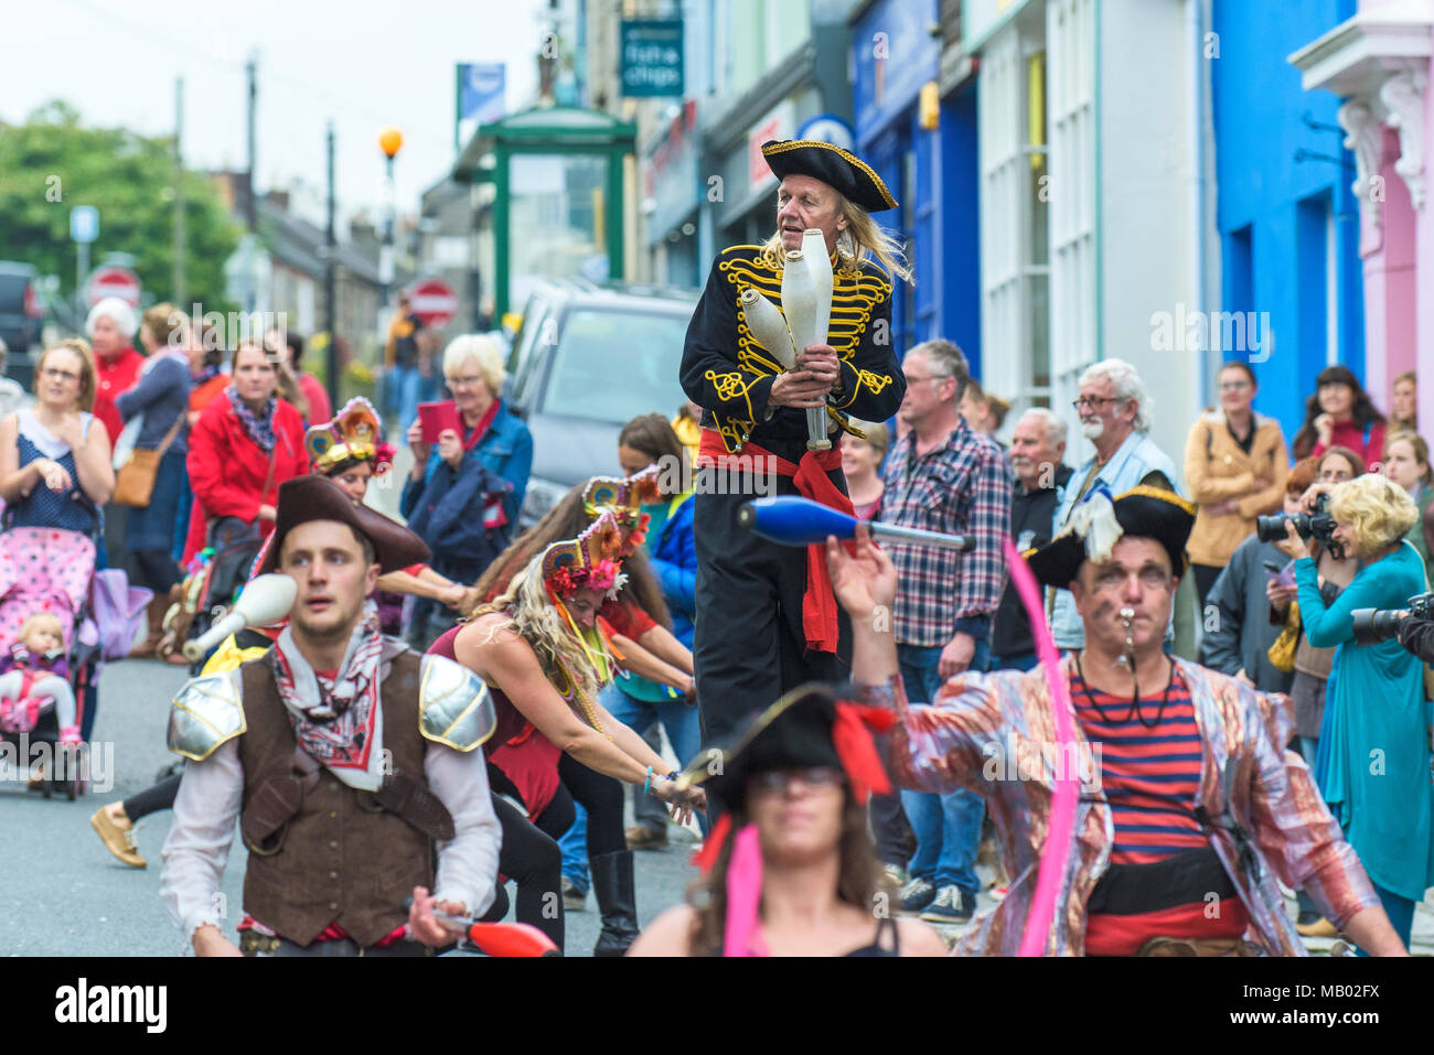
[[[1395,641],[1364,648],[1351,642],[1354,609],[1398,608],[1424,591],[1424,562],[1404,540],[1418,510],[1384,476],[1316,483],[1311,490],[1329,493],[1332,540],[1358,562],[1349,585],[1326,603],[1309,549],[1286,523],[1305,635],[1316,648],[1336,646],[1315,778],[1407,945],[1414,906],[1434,886],[1424,678],[1418,661]]]

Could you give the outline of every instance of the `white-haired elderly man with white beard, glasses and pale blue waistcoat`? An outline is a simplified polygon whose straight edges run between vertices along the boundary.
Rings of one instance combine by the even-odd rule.
[[[1055,507],[1051,538],[1061,533],[1071,510],[1096,487],[1121,495],[1143,483],[1184,497],[1174,462],[1147,436],[1154,401],[1133,366],[1106,358],[1087,367],[1073,406],[1080,414],[1081,434],[1096,446],[1096,453],[1071,474],[1065,496]],[[1086,645],[1086,629],[1070,591],[1045,591],[1045,618],[1057,648],[1067,651]],[[1166,631],[1169,638],[1170,631]]]

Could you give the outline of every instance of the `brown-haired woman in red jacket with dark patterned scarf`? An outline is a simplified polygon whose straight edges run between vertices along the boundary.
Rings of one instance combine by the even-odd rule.
[[[218,517],[274,530],[274,503],[284,480],[308,472],[304,421],[274,396],[278,376],[264,348],[242,343],[234,351],[231,383],[205,407],[189,437],[189,517],[184,563],[204,549]]]

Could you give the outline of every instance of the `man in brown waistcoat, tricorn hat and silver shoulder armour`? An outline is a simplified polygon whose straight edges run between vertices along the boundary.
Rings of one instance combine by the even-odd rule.
[[[288,626],[258,659],[189,681],[169,718],[169,747],[191,761],[161,896],[198,955],[430,955],[456,937],[435,909],[492,903],[486,688],[384,638],[364,605],[379,575],[426,559],[326,477],[280,487],[258,571],[298,583]],[[235,820],[250,850],[238,946],[218,893]]]

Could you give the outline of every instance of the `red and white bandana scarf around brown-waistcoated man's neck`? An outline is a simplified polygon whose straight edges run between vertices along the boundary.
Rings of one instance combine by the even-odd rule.
[[[326,770],[360,791],[377,791],[384,775],[381,655],[383,635],[373,615],[354,628],[333,679],[314,672],[288,626],[270,652],[270,668],[294,737]]]

